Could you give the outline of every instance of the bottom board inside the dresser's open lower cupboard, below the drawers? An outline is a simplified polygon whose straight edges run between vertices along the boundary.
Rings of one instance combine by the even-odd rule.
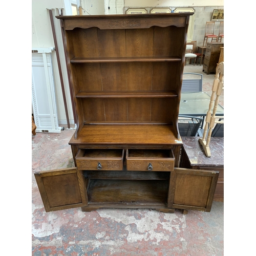
[[[166,205],[168,180],[91,179],[87,193],[89,204]]]

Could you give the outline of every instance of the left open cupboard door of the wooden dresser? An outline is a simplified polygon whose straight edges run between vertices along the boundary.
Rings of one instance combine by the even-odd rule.
[[[81,170],[65,168],[36,172],[34,175],[47,212],[88,205]]]

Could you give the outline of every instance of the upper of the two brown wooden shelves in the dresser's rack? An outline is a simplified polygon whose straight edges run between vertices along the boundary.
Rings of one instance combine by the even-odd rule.
[[[73,58],[71,63],[92,63],[92,62],[161,62],[161,61],[181,61],[179,56],[172,57],[134,57],[134,58]]]

